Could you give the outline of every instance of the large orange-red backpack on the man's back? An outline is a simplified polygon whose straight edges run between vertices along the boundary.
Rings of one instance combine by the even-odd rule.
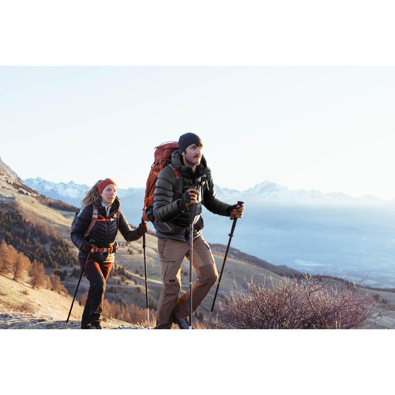
[[[154,207],[154,193],[157,184],[158,174],[160,170],[162,170],[168,164],[171,163],[171,155],[178,148],[178,142],[171,141],[167,143],[162,143],[155,148],[156,148],[154,154],[155,160],[151,166],[150,174],[148,175],[147,185],[145,189],[145,197],[144,197],[143,220],[146,222],[155,221],[153,215],[153,207]],[[176,179],[178,180],[179,190],[180,190],[180,182],[182,182],[182,177],[180,176],[178,170],[174,166],[171,167],[174,171]]]

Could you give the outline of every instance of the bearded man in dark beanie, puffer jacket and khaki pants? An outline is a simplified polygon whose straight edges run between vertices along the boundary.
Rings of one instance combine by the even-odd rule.
[[[203,204],[214,214],[241,218],[244,207],[218,200],[214,192],[211,170],[201,155],[202,143],[194,133],[180,136],[179,149],[174,151],[171,164],[158,174],[154,197],[154,216],[158,236],[163,287],[158,302],[155,329],[169,329],[173,322],[180,329],[189,329],[189,290],[178,298],[181,289],[181,263],[189,257],[189,207],[195,205],[193,265],[196,281],[192,287],[192,309],[195,311],[218,273],[210,247],[202,237],[204,226],[200,215]],[[179,176],[180,179],[177,179]]]

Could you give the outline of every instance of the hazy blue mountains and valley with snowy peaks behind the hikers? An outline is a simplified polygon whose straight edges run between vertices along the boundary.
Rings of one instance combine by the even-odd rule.
[[[41,178],[24,183],[40,194],[78,207],[90,188]],[[356,280],[368,274],[366,285],[395,287],[395,201],[292,191],[269,181],[245,191],[216,186],[216,192],[227,203],[245,202],[243,218],[237,221],[232,239],[233,248],[274,265]],[[129,223],[137,225],[141,221],[144,188],[121,189],[118,196]],[[203,217],[205,239],[226,245],[229,218],[206,209]]]

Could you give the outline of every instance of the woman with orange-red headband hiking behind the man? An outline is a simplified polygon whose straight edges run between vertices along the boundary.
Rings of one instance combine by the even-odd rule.
[[[102,329],[100,315],[106,281],[114,262],[118,229],[127,241],[134,241],[148,232],[142,222],[132,231],[119,208],[117,184],[107,178],[99,180],[82,199],[82,209],[72,224],[71,239],[79,248],[79,265],[90,253],[84,274],[89,280],[88,296],[82,313],[81,329]]]

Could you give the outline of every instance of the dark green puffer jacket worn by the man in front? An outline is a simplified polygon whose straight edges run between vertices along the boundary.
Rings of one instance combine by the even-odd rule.
[[[195,204],[195,223],[200,217],[202,204],[214,214],[228,215],[226,210],[231,205],[217,199],[211,170],[207,167],[206,159],[203,156],[200,164],[196,167],[195,174],[191,167],[184,166],[179,150],[173,152],[171,161],[183,177],[182,193],[193,186],[197,187],[197,190],[200,192],[199,202]],[[173,169],[170,166],[165,167],[158,174],[155,189],[154,216],[158,221],[155,224],[155,229],[158,237],[188,241],[189,211],[188,208],[185,211],[179,209],[178,202],[180,198],[173,201],[174,194],[177,194],[177,188],[178,183]],[[200,234],[201,230],[194,231],[194,238]]]

